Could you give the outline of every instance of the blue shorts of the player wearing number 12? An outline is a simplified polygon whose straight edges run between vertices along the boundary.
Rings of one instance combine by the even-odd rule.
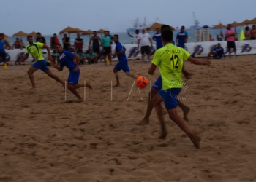
[[[167,110],[176,108],[178,106],[177,97],[181,88],[173,88],[168,90],[159,90],[158,95],[164,100],[165,108]]]

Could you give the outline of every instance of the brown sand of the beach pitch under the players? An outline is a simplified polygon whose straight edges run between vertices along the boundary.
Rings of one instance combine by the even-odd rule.
[[[193,76],[184,80],[191,89],[184,104],[202,149],[167,114],[165,140],[157,139],[155,111],[150,124],[135,125],[146,113],[150,87],[141,95],[134,87],[127,101],[133,80],[121,72],[111,101],[113,66],[80,67],[80,83],[94,87],[86,88],[83,103],[65,103],[63,87],[42,71],[34,74],[37,92],[27,94],[29,65],[1,66],[0,181],[256,181],[255,61],[249,55],[212,60],[211,67],[185,64]],[[152,84],[159,76],[147,74],[148,64],[129,66]],[[67,68],[50,69],[67,79]],[[67,92],[67,100],[76,98]]]

